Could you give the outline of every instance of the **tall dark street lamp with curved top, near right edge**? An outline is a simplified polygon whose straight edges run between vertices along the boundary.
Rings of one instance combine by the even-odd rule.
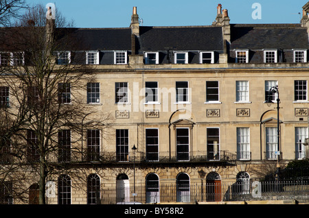
[[[280,161],[280,147],[279,147],[279,143],[280,143],[280,121],[279,121],[279,90],[277,86],[273,86],[271,87],[271,89],[268,92],[268,99],[265,101],[267,106],[271,106],[271,103],[273,103],[273,101],[271,100],[271,93],[277,93],[277,169],[276,169],[276,180],[279,179],[279,170],[280,170],[280,165],[279,165],[279,161]]]

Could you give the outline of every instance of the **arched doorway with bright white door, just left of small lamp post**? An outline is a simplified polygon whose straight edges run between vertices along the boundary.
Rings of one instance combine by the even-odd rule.
[[[125,173],[119,174],[116,180],[116,202],[126,203],[130,202],[130,182],[128,175]]]

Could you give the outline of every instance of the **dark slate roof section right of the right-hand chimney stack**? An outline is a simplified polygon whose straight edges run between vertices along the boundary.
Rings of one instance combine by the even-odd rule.
[[[307,49],[307,29],[300,24],[232,24],[230,48]]]

